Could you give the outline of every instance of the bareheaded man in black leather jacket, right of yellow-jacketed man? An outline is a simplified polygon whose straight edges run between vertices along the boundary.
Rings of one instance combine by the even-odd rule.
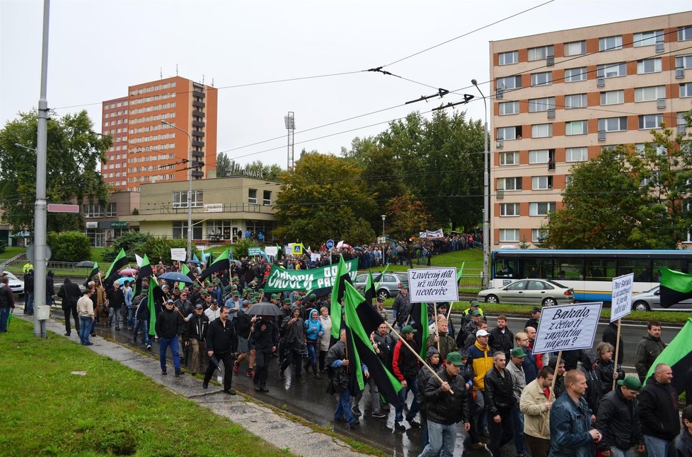
[[[485,374],[485,409],[488,411],[488,432],[490,445],[485,449],[492,457],[500,457],[500,448],[514,439],[514,422],[512,407],[514,398],[514,381],[512,375],[504,371],[507,359],[504,352],[492,355],[492,368]]]

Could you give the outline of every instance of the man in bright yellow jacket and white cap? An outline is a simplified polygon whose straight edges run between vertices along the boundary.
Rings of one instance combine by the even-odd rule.
[[[475,448],[483,447],[478,434],[488,434],[488,422],[485,417],[485,374],[492,368],[492,357],[488,346],[488,332],[479,330],[475,333],[475,343],[466,351],[468,364],[473,370],[473,406],[471,407],[471,444]],[[480,446],[479,446],[480,444]]]

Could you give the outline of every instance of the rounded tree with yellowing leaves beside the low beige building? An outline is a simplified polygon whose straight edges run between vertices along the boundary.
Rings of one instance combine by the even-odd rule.
[[[367,218],[376,204],[360,176],[358,167],[333,155],[303,154],[281,176],[275,235],[306,246],[330,238],[369,242],[375,233]]]

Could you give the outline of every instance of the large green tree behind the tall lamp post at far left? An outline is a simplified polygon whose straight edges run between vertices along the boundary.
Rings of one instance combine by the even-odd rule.
[[[20,113],[0,130],[0,209],[2,220],[14,230],[32,229],[36,198],[36,153],[15,146],[36,148],[38,117]],[[84,196],[105,206],[108,186],[96,171],[106,162],[110,136],[93,131],[86,111],[66,114],[47,123],[46,196],[49,203],[80,202]],[[59,232],[83,227],[81,215],[48,215],[47,230]]]

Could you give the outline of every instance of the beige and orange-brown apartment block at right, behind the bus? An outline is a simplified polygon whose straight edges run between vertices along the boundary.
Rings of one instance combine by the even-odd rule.
[[[490,59],[491,249],[539,241],[576,162],[692,109],[692,12],[491,42]]]

